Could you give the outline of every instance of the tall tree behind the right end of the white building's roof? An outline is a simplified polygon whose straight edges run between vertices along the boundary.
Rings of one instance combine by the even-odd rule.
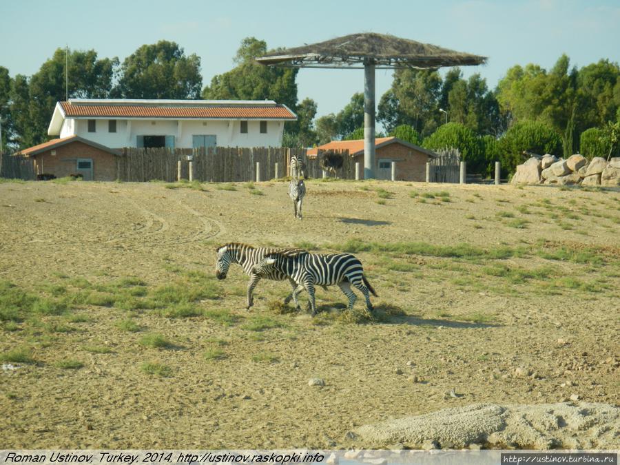
[[[273,100],[297,110],[296,69],[265,66],[254,58],[267,54],[267,43],[254,37],[241,41],[234,58],[236,67],[211,79],[203,99]],[[287,123],[287,130],[291,124]]]

